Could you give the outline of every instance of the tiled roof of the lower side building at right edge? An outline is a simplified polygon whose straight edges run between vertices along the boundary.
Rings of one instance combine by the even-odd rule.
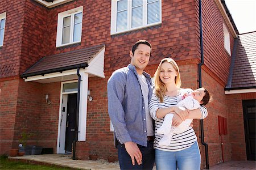
[[[256,92],[256,31],[243,33],[234,43],[225,94]]]

